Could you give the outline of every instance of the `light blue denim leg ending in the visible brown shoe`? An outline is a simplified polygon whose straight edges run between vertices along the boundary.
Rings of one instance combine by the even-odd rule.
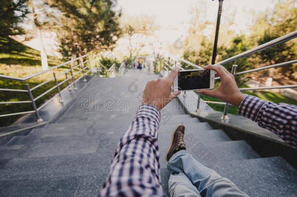
[[[167,163],[172,173],[183,172],[203,197],[247,197],[231,180],[195,160],[185,150],[180,150]]]

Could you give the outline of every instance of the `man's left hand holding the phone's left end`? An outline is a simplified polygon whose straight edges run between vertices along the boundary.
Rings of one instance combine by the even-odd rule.
[[[180,92],[170,92],[173,80],[179,68],[174,68],[167,77],[149,81],[142,96],[141,104],[149,104],[161,110]]]

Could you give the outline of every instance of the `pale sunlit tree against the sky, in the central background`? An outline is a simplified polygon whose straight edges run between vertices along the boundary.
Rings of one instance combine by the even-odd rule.
[[[134,56],[133,59],[135,59],[145,46],[148,36],[152,36],[159,27],[148,15],[141,15],[137,18],[127,16],[123,19],[123,23],[123,34],[129,40],[129,58],[132,59]],[[134,40],[135,43],[133,43]]]

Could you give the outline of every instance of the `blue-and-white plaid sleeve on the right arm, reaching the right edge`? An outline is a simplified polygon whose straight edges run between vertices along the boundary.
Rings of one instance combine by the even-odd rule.
[[[247,95],[238,108],[238,114],[255,121],[297,148],[297,106],[275,104]]]

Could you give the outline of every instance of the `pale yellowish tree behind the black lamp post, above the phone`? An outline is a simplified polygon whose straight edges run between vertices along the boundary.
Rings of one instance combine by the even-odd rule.
[[[183,57],[199,66],[211,63],[214,36],[209,35],[215,34],[215,23],[205,19],[206,13],[203,6],[202,4],[201,7],[195,7],[191,10],[193,16],[189,21],[188,36],[184,40],[183,47]],[[229,30],[229,27],[234,24],[234,13],[228,13],[223,16],[227,20],[223,20],[221,24],[216,62],[222,57],[224,50],[230,47],[232,35],[234,35],[234,31]],[[209,30],[212,30],[211,34],[209,34]],[[184,63],[182,65],[188,67]]]

